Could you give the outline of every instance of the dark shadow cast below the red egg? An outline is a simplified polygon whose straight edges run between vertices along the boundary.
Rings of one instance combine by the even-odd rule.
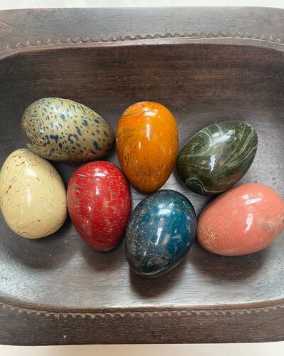
[[[114,271],[125,263],[124,241],[110,251],[95,251],[81,239],[80,248],[87,268],[94,271]]]

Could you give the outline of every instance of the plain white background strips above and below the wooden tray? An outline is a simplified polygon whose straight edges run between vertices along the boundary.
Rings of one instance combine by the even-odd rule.
[[[266,6],[284,0],[0,0],[0,9],[125,6]],[[283,325],[284,328],[284,325]],[[1,333],[1,330],[0,330]],[[284,341],[261,344],[1,346],[0,356],[283,356]]]

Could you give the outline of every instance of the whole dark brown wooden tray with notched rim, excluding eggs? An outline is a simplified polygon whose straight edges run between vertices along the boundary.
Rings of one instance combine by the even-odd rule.
[[[21,115],[47,96],[88,105],[113,129],[141,100],[175,115],[180,145],[216,120],[256,127],[256,159],[242,182],[284,194],[284,11],[53,9],[0,12],[1,164],[23,147]],[[115,152],[109,159],[117,163]],[[75,166],[55,164],[65,183]],[[164,188],[190,198],[175,172]],[[133,206],[142,194],[132,189]],[[226,216],[224,216],[224,221]],[[194,244],[185,261],[147,281],[124,244],[92,251],[67,221],[38,241],[1,217],[0,343],[50,345],[284,340],[284,239],[250,256]]]

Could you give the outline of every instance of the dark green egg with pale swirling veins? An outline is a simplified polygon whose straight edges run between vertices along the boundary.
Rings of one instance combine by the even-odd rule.
[[[256,155],[256,130],[241,121],[224,121],[197,132],[182,147],[177,170],[192,192],[215,195],[226,191],[248,171]]]

